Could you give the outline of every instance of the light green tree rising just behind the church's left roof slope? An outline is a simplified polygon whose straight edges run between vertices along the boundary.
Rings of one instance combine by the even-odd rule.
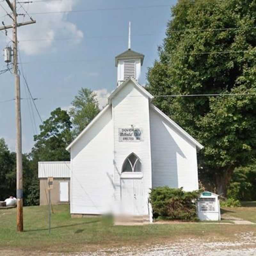
[[[81,88],[72,101],[69,111],[74,125],[74,135],[78,135],[100,112],[97,93],[88,88]]]

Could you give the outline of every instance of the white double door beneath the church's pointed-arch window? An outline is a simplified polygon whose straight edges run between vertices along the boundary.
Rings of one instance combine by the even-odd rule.
[[[124,214],[143,215],[142,179],[121,179],[121,201]]]

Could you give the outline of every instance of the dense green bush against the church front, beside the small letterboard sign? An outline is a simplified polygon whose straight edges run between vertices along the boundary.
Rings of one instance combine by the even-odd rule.
[[[156,220],[198,220],[196,200],[201,190],[185,192],[183,188],[158,187],[151,189],[150,203]]]

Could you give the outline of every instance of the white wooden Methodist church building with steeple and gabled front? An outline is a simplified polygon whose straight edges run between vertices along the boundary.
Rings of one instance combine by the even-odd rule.
[[[198,189],[203,146],[154,106],[139,84],[143,60],[130,47],[116,57],[117,86],[108,104],[66,148],[71,214],[103,214],[118,204],[151,219],[151,188]]]

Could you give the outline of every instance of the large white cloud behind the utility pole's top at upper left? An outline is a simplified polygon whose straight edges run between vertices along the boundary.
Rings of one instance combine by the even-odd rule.
[[[61,12],[71,11],[79,0],[62,0],[52,2],[39,2],[32,4],[23,4],[24,8],[28,8],[28,13],[36,12]],[[4,4],[4,3],[3,3]],[[17,10],[19,10],[19,4]],[[6,5],[6,9],[9,8]],[[23,13],[24,10],[20,9],[18,13]],[[6,13],[0,8],[0,17]],[[52,46],[55,38],[74,38],[70,40],[73,44],[81,42],[83,39],[83,32],[79,30],[76,24],[67,21],[68,13],[47,13],[41,15],[33,15],[32,18],[36,20],[36,24],[20,27],[18,31],[18,40],[20,41],[20,50],[28,55],[34,55],[44,52]],[[8,17],[7,17],[8,18]],[[5,19],[5,24],[11,23],[11,19]],[[18,22],[23,21],[22,16],[18,16]],[[29,20],[26,15],[25,20]],[[8,31],[11,36],[11,30]],[[33,39],[47,39],[45,41],[24,41]]]

